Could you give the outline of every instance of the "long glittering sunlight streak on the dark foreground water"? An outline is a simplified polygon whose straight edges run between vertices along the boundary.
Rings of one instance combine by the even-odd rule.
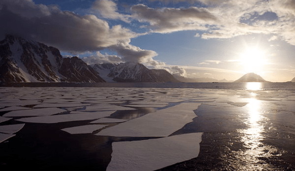
[[[261,159],[273,155],[276,149],[263,143],[266,139],[263,134],[265,132],[263,123],[266,117],[264,117],[262,101],[250,98],[246,107],[244,123],[247,128],[238,130],[245,150],[238,151],[236,157],[242,163],[246,163],[249,170],[263,171],[269,165]]]

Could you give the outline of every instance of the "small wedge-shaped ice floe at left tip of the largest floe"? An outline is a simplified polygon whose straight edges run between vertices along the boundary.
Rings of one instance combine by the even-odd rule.
[[[78,127],[70,127],[61,129],[70,134],[91,134],[93,131],[99,130],[108,125],[83,125]]]

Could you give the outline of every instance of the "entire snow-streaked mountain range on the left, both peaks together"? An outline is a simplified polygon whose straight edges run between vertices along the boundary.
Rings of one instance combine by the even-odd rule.
[[[102,78],[102,77],[103,78]],[[179,82],[164,69],[139,63],[89,66],[59,49],[13,35],[0,41],[0,82]]]

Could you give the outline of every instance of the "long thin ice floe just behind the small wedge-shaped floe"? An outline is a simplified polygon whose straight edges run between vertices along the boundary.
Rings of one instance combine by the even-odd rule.
[[[80,113],[75,113],[75,114],[21,118],[21,119],[17,119],[17,121],[30,122],[30,123],[52,124],[52,123],[59,123],[59,122],[99,119],[99,118],[111,116],[111,114],[114,112],[115,111],[80,112]]]

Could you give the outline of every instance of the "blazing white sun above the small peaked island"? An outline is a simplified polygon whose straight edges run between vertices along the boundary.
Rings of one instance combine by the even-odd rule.
[[[265,69],[267,62],[266,51],[255,47],[248,47],[240,54],[240,64],[246,73],[259,73]]]

